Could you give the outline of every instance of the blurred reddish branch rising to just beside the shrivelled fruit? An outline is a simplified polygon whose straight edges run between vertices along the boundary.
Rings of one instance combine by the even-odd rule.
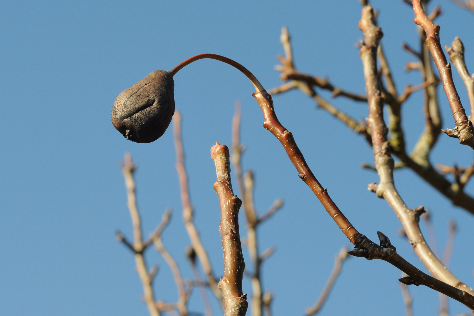
[[[219,300],[222,305],[222,294],[220,293],[216,277],[212,271],[212,266],[209,260],[209,256],[206,249],[202,245],[201,238],[199,236],[196,226],[194,226],[193,217],[194,210],[191,206],[188,189],[188,176],[184,167],[184,152],[182,148],[181,138],[181,114],[175,110],[173,115],[173,135],[174,135],[174,147],[176,150],[176,171],[178,172],[178,179],[181,190],[181,203],[182,203],[182,218],[184,221],[184,227],[188,232],[189,239],[191,240],[192,248],[196,252],[199,261],[201,262],[202,271],[206,276],[209,283],[209,287],[214,293],[214,296]]]

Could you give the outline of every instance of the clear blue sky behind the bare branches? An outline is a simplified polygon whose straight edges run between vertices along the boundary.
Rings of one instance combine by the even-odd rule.
[[[433,2],[445,11],[437,21],[441,44],[450,45],[454,36],[460,36],[473,71],[474,16],[448,1]],[[413,57],[402,51],[401,42],[418,45],[412,10],[401,0],[373,1],[373,5],[379,9],[383,45],[399,91],[409,82],[420,83],[418,73],[403,71]],[[173,207],[164,244],[184,277],[191,278],[183,255],[189,240],[182,226],[171,130],[151,144],[122,138],[110,123],[112,103],[121,90],[149,72],[170,70],[200,53],[235,59],[271,89],[280,84],[273,66],[276,55],[283,53],[279,36],[287,25],[298,69],[328,75],[337,85],[363,93],[362,63],[354,46],[362,37],[359,18],[357,0],[4,2],[0,12],[0,314],[148,315],[140,300],[133,257],[113,234],[118,228],[131,236],[119,168],[125,152],[131,152],[138,163],[137,197],[145,235],[159,223],[165,208]],[[223,263],[209,150],[216,141],[230,144],[234,101],[241,99],[242,142],[247,148],[243,165],[255,170],[256,206],[264,212],[274,199],[285,201],[259,232],[261,249],[277,247],[263,266],[264,288],[275,294],[275,316],[302,315],[319,296],[334,254],[350,245],[348,240],[298,178],[281,145],[262,127],[261,111],[251,96],[253,87],[241,73],[202,60],[184,68],[174,80],[196,225],[215,271],[221,274]],[[467,105],[456,72],[455,80]],[[443,127],[452,128],[442,90],[439,97]],[[367,116],[365,104],[333,101],[354,117]],[[365,140],[297,91],[274,97],[274,103],[313,172],[353,225],[373,240],[377,230],[384,232],[401,255],[426,271],[410,244],[397,235],[401,224],[393,211],[366,190],[378,176],[359,167],[373,162]],[[409,149],[423,128],[421,104],[422,95],[417,93],[403,106]],[[435,163],[467,165],[472,157],[470,148],[445,135],[433,153]],[[456,220],[459,233],[451,268],[472,286],[474,217],[452,207],[409,170],[396,172],[395,181],[410,208],[424,205],[431,210],[439,249],[444,248],[448,219]],[[472,185],[466,190],[474,193]],[[160,265],[154,283],[157,298],[176,300],[165,262],[153,249],[147,254],[150,266]],[[400,271],[386,262],[350,258],[320,315],[374,315],[381,308],[388,308],[384,315],[403,315],[399,277]],[[414,286],[410,290],[415,315],[437,313],[436,292]],[[251,292],[247,279],[244,291]],[[367,298],[373,301],[365,304]],[[197,291],[190,310],[203,312]],[[214,312],[220,313],[217,307]],[[453,315],[462,312],[467,308],[451,303]]]

